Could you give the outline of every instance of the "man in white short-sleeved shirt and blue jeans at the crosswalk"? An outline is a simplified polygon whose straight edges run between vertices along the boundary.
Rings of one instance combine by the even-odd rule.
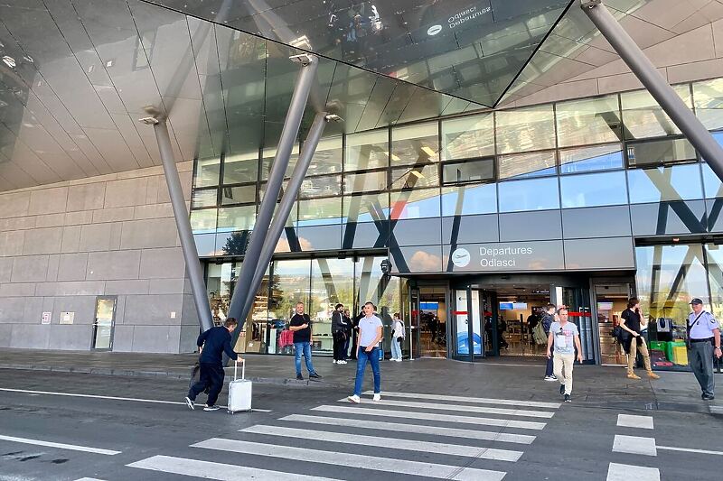
[[[359,334],[357,334],[357,361],[356,381],[354,382],[354,393],[349,396],[351,402],[361,402],[362,384],[364,383],[364,369],[367,361],[371,364],[371,372],[374,375],[374,401],[380,401],[381,377],[379,372],[379,341],[382,337],[381,319],[374,315],[374,304],[364,304],[364,317],[359,320]]]

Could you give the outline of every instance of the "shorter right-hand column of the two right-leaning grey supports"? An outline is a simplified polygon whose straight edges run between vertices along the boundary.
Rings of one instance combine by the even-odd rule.
[[[304,148],[301,150],[299,160],[296,162],[294,172],[291,174],[291,179],[288,181],[284,197],[278,205],[276,216],[268,229],[268,236],[264,242],[261,254],[258,256],[258,262],[256,262],[256,272],[254,273],[253,281],[249,285],[249,289],[246,293],[246,300],[243,304],[243,309],[240,312],[239,319],[246,319],[253,307],[254,299],[256,298],[256,292],[261,282],[264,280],[264,273],[268,267],[268,263],[271,262],[271,257],[276,250],[278,239],[281,238],[281,233],[284,231],[286,226],[286,219],[291,213],[291,208],[294,207],[296,202],[296,196],[301,189],[301,183],[304,181],[306,171],[309,169],[314,153],[316,152],[316,146],[319,144],[322,134],[324,134],[324,126],[329,118],[326,112],[320,112],[316,114],[314,124],[309,130],[309,134],[306,135],[304,142]]]

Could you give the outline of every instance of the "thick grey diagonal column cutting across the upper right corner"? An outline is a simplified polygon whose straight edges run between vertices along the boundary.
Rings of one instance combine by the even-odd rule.
[[[723,180],[723,149],[681,97],[678,97],[675,90],[662,78],[658,69],[655,69],[653,63],[645,57],[640,47],[625,32],[602,0],[580,0],[580,7],[633,71],[635,77],[671,117],[673,123],[702,154],[718,179]]]

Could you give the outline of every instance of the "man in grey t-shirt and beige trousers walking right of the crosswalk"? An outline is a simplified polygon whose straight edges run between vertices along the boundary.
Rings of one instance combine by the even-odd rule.
[[[577,361],[582,363],[582,347],[577,326],[568,322],[568,310],[560,308],[558,319],[549,326],[548,358],[552,357],[552,370],[559,379],[559,393],[565,395],[565,402],[571,402],[572,366],[575,364],[575,348]],[[552,345],[555,345],[554,353]]]

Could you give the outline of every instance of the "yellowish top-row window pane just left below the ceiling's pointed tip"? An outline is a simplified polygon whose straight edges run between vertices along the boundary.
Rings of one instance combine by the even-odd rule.
[[[443,160],[474,159],[494,155],[492,114],[442,121]]]

